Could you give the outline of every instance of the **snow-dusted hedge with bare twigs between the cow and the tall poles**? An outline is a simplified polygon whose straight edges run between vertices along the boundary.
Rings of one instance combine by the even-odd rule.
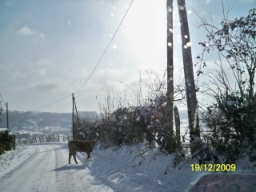
[[[146,70],[146,74],[146,80],[140,74],[137,91],[123,83],[132,90],[131,100],[126,98],[127,91],[124,94],[118,91],[107,92],[103,102],[102,96],[96,97],[100,118],[90,123],[80,121],[81,126],[77,125],[79,128],[75,137],[82,140],[96,137],[103,149],[131,146],[138,142],[146,142],[150,148],[166,149],[166,73],[162,79],[153,71]],[[185,98],[184,86],[182,77],[179,77],[179,82],[174,86],[174,98],[178,102]]]

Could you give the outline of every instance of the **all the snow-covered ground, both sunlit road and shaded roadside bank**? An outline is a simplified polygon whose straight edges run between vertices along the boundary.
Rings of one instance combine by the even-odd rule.
[[[100,150],[68,164],[67,143],[18,146],[0,156],[0,191],[188,191],[206,172],[172,167],[172,155],[145,145]],[[242,173],[243,162],[235,173]]]

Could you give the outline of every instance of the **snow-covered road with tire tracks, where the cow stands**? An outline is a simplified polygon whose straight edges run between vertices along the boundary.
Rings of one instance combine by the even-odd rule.
[[[78,165],[69,165],[68,150],[63,145],[26,147],[31,155],[0,173],[0,191],[113,191],[91,176],[86,163],[78,159]]]

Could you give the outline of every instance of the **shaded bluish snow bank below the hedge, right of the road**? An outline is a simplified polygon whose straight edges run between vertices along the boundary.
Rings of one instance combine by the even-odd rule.
[[[97,146],[91,155],[88,160],[83,153],[78,158],[114,191],[187,191],[202,175],[186,165],[174,169],[172,155],[148,150],[144,144],[107,150]]]

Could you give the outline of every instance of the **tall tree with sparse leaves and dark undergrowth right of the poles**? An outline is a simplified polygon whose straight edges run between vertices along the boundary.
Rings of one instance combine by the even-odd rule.
[[[206,41],[199,42],[203,52],[198,55],[200,66],[198,77],[206,76],[209,82],[203,82],[202,93],[213,98],[213,102],[203,109],[202,122],[208,128],[202,147],[202,157],[206,161],[235,162],[238,158],[249,156],[250,162],[256,162],[256,9],[247,16],[228,19],[223,2],[223,19],[220,26],[201,19],[198,27],[203,27]],[[215,53],[218,61],[214,71],[206,73],[204,55]],[[208,64],[207,64],[208,65]],[[208,69],[209,70],[209,69]],[[214,154],[207,149],[214,148]],[[212,157],[212,158],[209,158]]]

